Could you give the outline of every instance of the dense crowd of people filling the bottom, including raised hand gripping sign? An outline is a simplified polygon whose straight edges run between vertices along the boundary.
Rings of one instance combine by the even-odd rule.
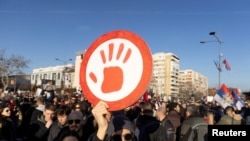
[[[250,101],[241,110],[216,102],[139,99],[109,111],[80,93],[1,93],[0,141],[207,141],[208,125],[249,125]]]

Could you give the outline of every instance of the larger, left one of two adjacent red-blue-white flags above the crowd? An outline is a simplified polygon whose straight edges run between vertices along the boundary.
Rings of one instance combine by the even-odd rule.
[[[227,88],[225,84],[222,84],[217,94],[214,96],[214,100],[220,104],[223,108],[227,106],[232,106],[234,104],[231,91]]]

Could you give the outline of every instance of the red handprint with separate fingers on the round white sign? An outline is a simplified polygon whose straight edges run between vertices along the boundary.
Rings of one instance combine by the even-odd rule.
[[[121,61],[121,55],[124,51],[124,44],[120,43],[120,46],[119,46],[119,49],[115,58],[113,58],[113,54],[114,54],[113,51],[114,51],[114,44],[110,43],[109,52],[108,52],[108,61],[105,56],[104,50],[100,51],[102,62],[104,65],[106,65],[106,67],[104,67],[103,69],[104,79],[103,79],[102,86],[101,86],[101,90],[103,93],[110,93],[110,92],[120,90],[123,84],[123,77],[124,77],[123,70],[120,66],[107,66],[107,63],[111,62],[113,59],[116,59],[115,61],[119,61],[121,65],[125,64],[128,61],[132,52],[131,49],[128,48],[123,60]],[[96,75],[93,72],[90,72],[89,77],[91,78],[93,82],[95,83],[97,82]]]

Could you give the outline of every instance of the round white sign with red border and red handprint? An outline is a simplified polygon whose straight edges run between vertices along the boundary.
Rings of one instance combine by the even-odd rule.
[[[152,75],[152,55],[137,34],[127,30],[108,32],[85,52],[80,85],[93,105],[100,100],[110,111],[124,109],[145,93]]]

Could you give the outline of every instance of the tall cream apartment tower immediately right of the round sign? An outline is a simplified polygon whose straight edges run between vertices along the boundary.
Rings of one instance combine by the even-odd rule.
[[[179,58],[173,53],[153,54],[153,74],[149,89],[161,98],[179,94]]]

